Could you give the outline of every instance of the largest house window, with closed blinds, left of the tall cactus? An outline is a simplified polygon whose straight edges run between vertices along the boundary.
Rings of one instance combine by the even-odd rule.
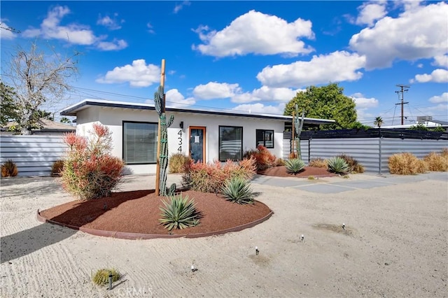
[[[123,121],[123,160],[126,164],[157,162],[158,123]]]

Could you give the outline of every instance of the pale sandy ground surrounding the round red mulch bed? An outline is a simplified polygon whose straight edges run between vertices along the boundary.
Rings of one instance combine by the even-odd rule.
[[[447,297],[447,178],[359,175],[296,187],[259,177],[257,199],[274,211],[266,222],[223,236],[145,241],[41,224],[38,208],[71,200],[57,178],[2,179],[0,296]],[[123,190],[154,184],[154,176],[125,180]],[[328,182],[344,191],[318,192]],[[102,267],[125,275],[113,290],[90,281]]]

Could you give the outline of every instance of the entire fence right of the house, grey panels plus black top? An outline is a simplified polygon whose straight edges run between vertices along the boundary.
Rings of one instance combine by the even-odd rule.
[[[305,132],[300,136],[302,159],[328,159],[336,155],[350,155],[364,166],[365,171],[389,173],[388,158],[401,152],[410,152],[423,158],[430,152],[441,152],[448,148],[447,133],[415,132],[409,130],[361,130]],[[283,158],[288,159],[290,132],[283,133]]]

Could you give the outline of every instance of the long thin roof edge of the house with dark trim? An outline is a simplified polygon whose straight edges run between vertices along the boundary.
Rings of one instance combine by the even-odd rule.
[[[78,102],[78,104],[73,104],[64,110],[60,111],[61,115],[64,116],[76,116],[78,111],[81,111],[90,106],[104,106],[111,108],[132,108],[137,110],[153,110],[155,111],[153,104],[137,104],[124,101],[106,101],[101,99],[84,99]],[[262,114],[262,113],[247,113],[242,111],[213,111],[213,110],[198,110],[190,108],[174,108],[166,107],[166,111],[180,112],[180,113],[197,113],[197,114],[208,114],[208,115],[223,115],[223,116],[236,116],[236,117],[248,117],[248,118],[263,118],[272,120],[285,120],[291,121],[292,116],[286,115],[273,115],[273,114]],[[304,118],[305,123],[313,125],[328,125],[335,123],[335,120],[317,119],[317,118]]]

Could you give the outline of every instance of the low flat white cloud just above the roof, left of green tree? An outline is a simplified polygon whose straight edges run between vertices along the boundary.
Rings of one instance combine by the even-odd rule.
[[[292,90],[290,88],[270,88],[262,86],[260,89],[255,89],[252,92],[244,92],[236,94],[231,101],[244,104],[253,101],[283,101],[288,102],[295,97],[297,92],[302,90]]]

